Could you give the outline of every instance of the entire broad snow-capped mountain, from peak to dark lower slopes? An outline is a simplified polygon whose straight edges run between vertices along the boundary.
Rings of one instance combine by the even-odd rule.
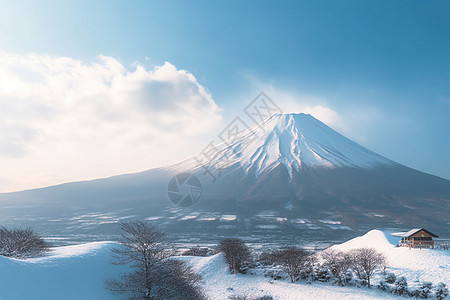
[[[311,230],[316,238],[336,230],[348,237],[381,224],[450,236],[449,180],[384,158],[310,115],[274,115],[204,154],[137,174],[0,194],[0,218],[77,236],[112,233],[130,218],[211,238]],[[182,183],[193,177],[174,177],[180,173],[199,179],[190,197],[181,195]],[[168,194],[195,204],[177,207]]]

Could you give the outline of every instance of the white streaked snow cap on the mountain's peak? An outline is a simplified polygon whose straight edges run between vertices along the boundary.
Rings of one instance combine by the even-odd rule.
[[[370,168],[393,163],[304,113],[275,114],[218,148],[211,164],[228,167],[238,162],[256,177],[280,164],[292,176],[304,166]]]

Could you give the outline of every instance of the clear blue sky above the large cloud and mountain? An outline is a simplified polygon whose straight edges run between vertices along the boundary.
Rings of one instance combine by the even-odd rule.
[[[169,62],[195,76],[225,123],[265,90],[282,104],[278,98],[290,99],[286,112],[295,101],[299,110],[327,107],[349,138],[450,178],[448,1],[0,1],[0,7],[0,51],[8,55],[87,64],[104,55],[128,70]]]

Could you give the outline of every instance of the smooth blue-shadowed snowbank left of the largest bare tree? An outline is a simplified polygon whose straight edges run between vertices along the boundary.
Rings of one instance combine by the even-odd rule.
[[[124,299],[104,288],[122,267],[111,264],[113,242],[54,248],[45,257],[0,256],[0,299]]]

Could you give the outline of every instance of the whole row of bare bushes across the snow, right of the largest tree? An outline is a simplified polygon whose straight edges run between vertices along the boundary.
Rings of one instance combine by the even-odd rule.
[[[219,249],[228,262],[231,273],[245,273],[255,264],[278,266],[289,276],[291,282],[299,279],[329,281],[345,285],[353,278],[353,273],[361,279],[362,285],[371,288],[371,278],[376,270],[386,267],[383,254],[371,248],[360,248],[348,253],[333,250],[320,255],[298,247],[288,247],[272,252],[263,252],[253,258],[251,250],[240,239],[226,239]],[[322,263],[319,263],[319,262]],[[276,277],[276,275],[274,275]]]

